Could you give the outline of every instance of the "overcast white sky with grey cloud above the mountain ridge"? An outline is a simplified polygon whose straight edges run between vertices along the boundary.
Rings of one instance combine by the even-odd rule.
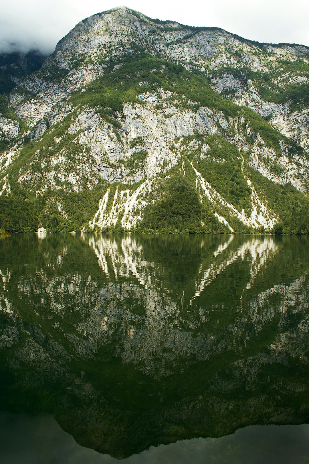
[[[122,2],[122,3],[121,3]],[[120,6],[151,18],[217,26],[259,42],[309,45],[309,0],[2,0],[0,52],[53,52],[81,19]]]

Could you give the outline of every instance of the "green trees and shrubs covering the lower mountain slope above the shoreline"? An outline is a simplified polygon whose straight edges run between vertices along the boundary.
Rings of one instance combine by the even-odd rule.
[[[115,64],[118,68],[114,71]],[[71,125],[83,109],[97,111],[120,146],[134,150],[130,157],[124,155],[123,159],[111,161],[111,164],[123,166],[134,174],[139,169],[143,170],[148,147],[143,137],[138,136],[129,142],[124,138],[121,129],[124,104],[146,105],[145,99],[139,96],[148,93],[157,95],[159,103],[156,110],[160,112],[163,110],[163,103],[160,103],[162,91],[167,94],[165,105],[170,103],[177,111],[192,114],[207,108],[213,114],[221,115],[218,121],[223,118],[223,125],[217,122],[214,133],[196,129],[194,135],[171,141],[171,149],[182,161],[178,162],[177,168],[162,176],[155,192],[150,193],[147,204],[137,207],[142,220],[132,229],[136,232],[229,233],[231,229],[227,223],[218,219],[221,216],[235,232],[264,231],[263,228],[246,226],[220,201],[212,203],[205,196],[202,199],[196,175],[190,166],[192,163],[210,186],[239,213],[244,211],[247,217],[252,213],[248,177],[260,199],[279,218],[275,232],[308,233],[307,197],[292,187],[274,184],[248,168],[246,152],[239,150],[231,138],[237,130],[245,137],[249,147],[259,138],[278,158],[282,156],[283,145],[287,147],[289,156],[303,155],[303,148],[273,129],[257,113],[239,107],[214,92],[202,72],[188,71],[179,64],[141,53],[110,62],[104,76],[71,94],[69,102],[73,110],[68,116],[48,128],[40,139],[32,142],[24,140],[19,155],[2,170],[10,188],[0,196],[0,226],[9,232],[32,232],[40,226],[51,232],[71,232],[83,227],[88,230],[88,223],[98,210],[108,182],[102,180],[89,146],[80,138],[82,129],[71,131]],[[164,118],[168,117],[165,111]],[[224,120],[230,125],[225,126]],[[276,160],[267,162],[270,170],[280,175],[282,168]],[[185,166],[184,175],[181,163]],[[76,182],[78,188],[74,187]],[[5,185],[3,180],[1,188]],[[132,190],[133,187],[123,187],[124,190],[128,188]],[[106,214],[110,213],[114,201],[110,193]],[[117,222],[107,226],[107,230],[124,230],[121,225],[123,208],[121,205],[117,208]],[[95,229],[100,230],[98,226]]]

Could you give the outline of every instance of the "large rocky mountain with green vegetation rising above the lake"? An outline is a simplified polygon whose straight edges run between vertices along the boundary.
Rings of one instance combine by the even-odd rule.
[[[309,231],[309,48],[126,7],[84,19],[9,94],[9,232]]]

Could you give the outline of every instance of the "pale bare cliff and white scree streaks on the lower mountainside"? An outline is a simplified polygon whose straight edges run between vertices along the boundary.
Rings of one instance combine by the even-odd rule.
[[[108,189],[99,202],[97,213],[89,222],[93,229],[105,228],[115,226],[121,217],[121,225],[125,229],[132,229],[142,220],[142,210],[149,204],[148,196],[156,192],[159,183],[157,176],[182,161],[181,146],[184,137],[193,137],[186,145],[188,150],[196,149],[198,146],[194,139],[196,130],[205,136],[216,134],[227,137],[239,148],[248,150],[244,135],[238,132],[238,127],[243,122],[239,117],[226,118],[221,111],[214,112],[207,107],[195,111],[181,110],[175,106],[176,95],[162,89],[156,94],[142,93],[139,99],[141,103],[124,104],[123,113],[119,114],[118,118],[120,129],[112,129],[94,109],[79,110],[68,129],[68,134],[74,136],[71,143],[81,147],[81,153],[75,155],[76,164],[71,165],[67,150],[62,147],[62,137],[56,137],[54,145],[50,147],[50,158],[46,158],[46,155],[43,156],[38,150],[33,160],[34,163],[42,163],[42,172],[34,173],[30,164],[20,170],[19,182],[40,185],[38,192],[43,193],[47,188],[64,188],[78,192],[82,190],[85,179],[88,188],[91,189],[98,181],[98,174],[111,183],[119,180],[127,183],[144,180],[135,190],[128,188],[118,191],[117,187],[109,211],[107,201],[111,193]],[[45,127],[43,122],[37,124],[33,134],[36,134],[41,126]],[[250,133],[251,129],[247,130]],[[59,151],[58,144],[62,147]],[[282,150],[288,154],[288,148],[284,144]],[[209,147],[203,146],[201,158],[207,157],[208,151]],[[136,153],[144,153],[145,159],[132,169],[128,163],[134,160]],[[305,161],[296,155],[293,162],[287,155],[278,156],[273,149],[266,146],[259,134],[250,146],[249,159],[252,167],[268,179],[282,184],[290,182],[299,190],[305,189],[303,180],[299,179],[301,169],[303,179],[307,175]],[[282,174],[271,173],[267,160],[276,160],[282,168]],[[253,228],[264,227],[269,230],[277,222],[277,217],[259,198],[249,180],[248,185],[252,192],[250,214],[237,210],[202,177],[193,164],[192,168],[196,175],[196,187],[201,192],[201,201],[210,201],[216,208],[217,219],[227,225],[231,232],[233,227],[229,224],[228,218],[224,217],[225,213],[222,215],[222,211],[228,211],[230,217]],[[65,218],[66,212],[63,211],[62,204],[57,203],[57,208]]]

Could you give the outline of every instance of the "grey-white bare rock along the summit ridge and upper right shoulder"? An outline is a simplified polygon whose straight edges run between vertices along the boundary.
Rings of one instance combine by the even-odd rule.
[[[11,104],[17,116],[30,125],[46,117],[50,123],[58,122],[57,115],[66,105],[69,93],[103,75],[109,59],[121,58],[132,52],[132,42],[146,52],[159,53],[163,58],[189,69],[208,70],[208,73],[224,66],[241,68],[244,65],[251,71],[267,73],[278,60],[293,61],[304,57],[304,62],[308,62],[309,53],[307,47],[290,45],[268,46],[267,53],[261,53],[259,47],[248,41],[240,41],[221,29],[197,28],[192,32],[174,22],[156,24],[126,7],[115,8],[81,21],[60,40],[56,51],[45,60],[37,76],[22,84],[37,97],[27,97],[25,100],[20,94],[13,92],[11,95]],[[55,83],[55,69],[67,74],[66,78],[61,81],[56,77]],[[44,74],[50,74],[48,80],[41,77]],[[288,74],[282,75],[278,84],[282,85],[286,77],[290,83],[297,84],[308,80],[307,76]],[[308,108],[302,110],[301,114],[290,115],[288,102],[280,105],[266,102],[250,79],[244,85],[232,74],[214,78],[213,83],[218,93],[236,92],[233,97],[235,103],[249,106],[263,117],[270,117],[269,122],[275,129],[294,138],[308,150]]]

